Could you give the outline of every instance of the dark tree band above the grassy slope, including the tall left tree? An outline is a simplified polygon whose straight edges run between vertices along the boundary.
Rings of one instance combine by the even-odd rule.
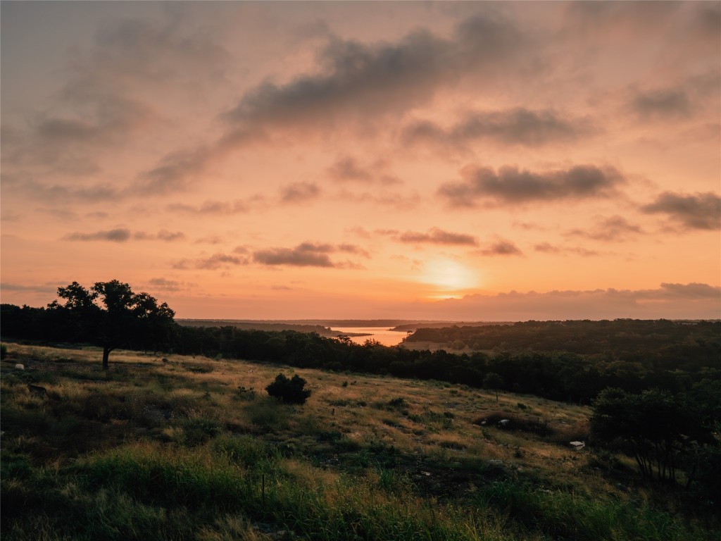
[[[609,322],[581,322],[598,327],[587,332],[582,355],[562,351],[497,351],[495,353],[452,353],[445,350],[411,350],[386,347],[373,340],[359,345],[348,338],[324,338],[317,333],[293,330],[244,330],[236,327],[185,327],[174,322],[167,304],[158,304],[147,294],[135,294],[118,281],[96,283],[84,289],[77,283],[60,288],[61,301],[45,308],[1,307],[5,338],[43,340],[45,343],[94,343],[103,348],[103,366],[114,348],[139,351],[167,351],[182,355],[203,355],[225,359],[248,359],[300,368],[389,374],[402,378],[436,379],[470,387],[492,387],[588,404],[601,390],[615,387],[640,393],[658,388],[669,392],[691,392],[704,382],[721,381],[721,324],[698,322],[612,322],[614,329],[655,328],[655,340],[627,353],[608,340],[591,336],[609,328]],[[505,325],[523,330],[542,329],[544,322]],[[554,322],[547,322],[547,327]],[[572,327],[575,322],[566,322]],[[669,345],[660,338],[665,330],[683,332]],[[451,328],[452,330],[452,328]],[[606,331],[603,331],[606,332]],[[523,334],[521,333],[521,334]],[[608,333],[606,333],[608,335]],[[653,344],[657,348],[653,348]],[[641,354],[641,352],[643,354]],[[668,356],[673,353],[673,361]],[[489,378],[489,375],[492,377]]]

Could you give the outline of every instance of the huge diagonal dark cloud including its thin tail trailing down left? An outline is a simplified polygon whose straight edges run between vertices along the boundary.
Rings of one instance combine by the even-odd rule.
[[[268,79],[247,90],[222,115],[226,131],[213,146],[193,159],[188,153],[169,155],[141,175],[138,188],[144,193],[182,189],[226,152],[279,130],[327,132],[357,123],[368,128],[381,118],[399,117],[438,89],[458,84],[459,74],[478,84],[493,80],[491,74],[516,76],[523,64],[534,64],[528,42],[512,22],[492,16],[466,19],[451,38],[423,29],[395,43],[329,38],[313,74],[285,83]],[[393,180],[392,175],[386,179]]]

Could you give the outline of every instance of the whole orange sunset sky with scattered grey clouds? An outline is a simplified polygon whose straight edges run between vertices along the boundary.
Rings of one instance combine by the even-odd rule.
[[[0,11],[1,302],[721,317],[721,2]]]

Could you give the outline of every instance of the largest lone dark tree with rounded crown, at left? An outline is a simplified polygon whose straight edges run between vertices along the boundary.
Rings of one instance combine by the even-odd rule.
[[[58,288],[58,297],[48,309],[70,320],[76,335],[102,346],[102,369],[108,369],[110,352],[128,343],[147,347],[157,344],[169,332],[175,312],[158,304],[146,293],[133,293],[118,280],[96,282],[85,289],[77,282]]]

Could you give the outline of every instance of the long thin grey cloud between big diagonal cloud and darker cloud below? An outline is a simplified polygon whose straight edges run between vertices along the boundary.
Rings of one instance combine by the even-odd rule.
[[[593,133],[588,118],[565,118],[552,109],[516,107],[500,111],[476,111],[448,128],[429,120],[418,120],[402,132],[404,144],[426,142],[444,148],[464,149],[479,139],[504,145],[543,146],[577,141]]]

